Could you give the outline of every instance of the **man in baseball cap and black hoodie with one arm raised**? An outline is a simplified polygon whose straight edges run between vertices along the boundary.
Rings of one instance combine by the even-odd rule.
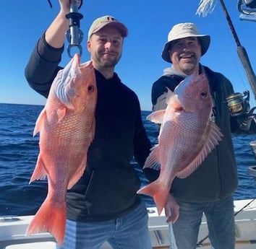
[[[69,28],[65,17],[69,0],[59,3],[59,14],[39,39],[25,69],[30,86],[45,97],[61,69]],[[98,91],[95,136],[86,170],[67,192],[63,249],[99,249],[105,242],[114,249],[151,249],[148,211],[137,196],[140,179],[130,165],[135,157],[142,167],[151,144],[137,95],[114,72],[127,35],[127,27],[109,15],[95,19],[88,32]]]

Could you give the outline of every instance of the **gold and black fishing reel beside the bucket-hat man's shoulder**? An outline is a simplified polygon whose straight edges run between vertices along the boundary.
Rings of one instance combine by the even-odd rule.
[[[236,92],[229,95],[226,97],[226,103],[231,116],[238,117],[239,127],[244,131],[248,131],[252,119],[256,122],[256,114],[253,113],[256,107],[251,109],[249,106],[249,91],[246,90],[243,93]]]

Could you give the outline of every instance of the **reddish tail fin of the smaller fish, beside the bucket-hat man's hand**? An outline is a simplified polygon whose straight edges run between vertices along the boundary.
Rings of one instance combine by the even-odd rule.
[[[168,188],[164,188],[158,180],[155,180],[153,183],[140,188],[137,193],[152,196],[158,209],[158,215],[160,215],[166,205],[168,191]]]

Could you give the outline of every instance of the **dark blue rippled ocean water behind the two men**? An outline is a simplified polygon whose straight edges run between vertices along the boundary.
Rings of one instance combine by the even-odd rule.
[[[33,128],[42,108],[40,105],[0,104],[0,216],[35,214],[46,198],[46,180],[29,185],[39,152],[39,137],[33,137]],[[149,113],[142,111],[142,119],[148,137],[155,144],[158,128],[145,120]],[[256,165],[249,147],[249,142],[254,140],[255,135],[233,137],[239,172],[235,199],[256,197],[256,180],[248,171],[249,166]],[[147,183],[136,164],[135,170],[142,184]],[[145,201],[148,206],[153,206],[151,198],[145,197]]]

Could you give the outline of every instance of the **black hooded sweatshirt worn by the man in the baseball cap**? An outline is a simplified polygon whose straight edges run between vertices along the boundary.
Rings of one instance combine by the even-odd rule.
[[[55,49],[44,38],[38,41],[25,69],[30,86],[47,97],[63,48]],[[140,179],[130,161],[143,166],[150,141],[142,126],[140,103],[117,74],[105,79],[95,70],[98,100],[95,138],[88,150],[82,178],[67,192],[67,218],[103,221],[116,219],[140,204]]]

